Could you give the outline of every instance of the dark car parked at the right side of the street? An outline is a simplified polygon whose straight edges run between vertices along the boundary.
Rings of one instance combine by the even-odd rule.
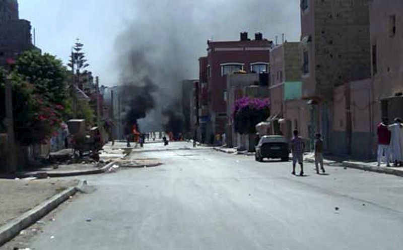
[[[284,136],[263,136],[256,146],[255,160],[262,161],[263,158],[288,161],[290,147]]]

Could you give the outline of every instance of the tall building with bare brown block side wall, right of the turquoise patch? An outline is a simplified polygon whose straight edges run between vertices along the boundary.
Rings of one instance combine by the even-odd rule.
[[[371,75],[369,0],[301,0],[301,28],[302,97],[311,104],[310,137],[321,132],[325,150],[337,153],[343,135],[332,130],[333,90]]]

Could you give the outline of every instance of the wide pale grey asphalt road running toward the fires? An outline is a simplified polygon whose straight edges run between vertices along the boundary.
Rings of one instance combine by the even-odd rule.
[[[299,177],[291,163],[184,146],[146,144],[130,157],[164,165],[89,176],[97,191],[58,211],[30,247],[403,249],[403,178],[340,167],[316,175],[312,164]]]

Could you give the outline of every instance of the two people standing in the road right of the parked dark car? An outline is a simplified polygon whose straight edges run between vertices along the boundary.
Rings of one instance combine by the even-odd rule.
[[[291,152],[293,155],[293,171],[292,174],[295,175],[295,168],[297,163],[301,166],[300,175],[304,175],[304,151],[305,143],[304,140],[299,136],[298,130],[293,132],[293,140],[291,141]],[[319,166],[322,173],[325,173],[323,167],[323,141],[322,136],[318,133],[315,135],[315,169],[316,173],[319,174]]]

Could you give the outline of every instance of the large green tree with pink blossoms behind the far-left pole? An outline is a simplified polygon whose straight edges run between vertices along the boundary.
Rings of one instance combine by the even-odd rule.
[[[0,74],[0,95],[9,74],[13,86],[13,114],[16,141],[22,145],[44,143],[59,129],[69,113],[67,71],[59,59],[39,51],[26,51],[13,70]],[[5,117],[0,102],[0,120]]]

